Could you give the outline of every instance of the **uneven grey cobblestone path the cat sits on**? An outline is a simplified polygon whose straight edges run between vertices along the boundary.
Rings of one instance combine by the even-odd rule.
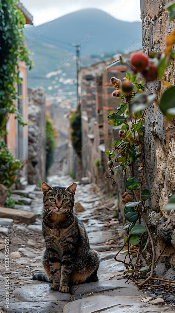
[[[48,177],[48,184],[68,187],[72,182],[69,176]],[[24,194],[23,194],[24,195]],[[38,216],[42,212],[42,192],[32,191],[25,194],[23,204],[18,204],[16,209],[34,212]],[[15,195],[13,196],[15,198]],[[19,198],[17,196],[17,198]],[[20,198],[22,199],[22,198]],[[43,237],[41,217],[37,217],[35,223],[27,224],[13,223],[12,219],[0,218],[0,226],[12,229],[27,236],[27,244],[19,246],[17,251],[10,253],[10,258],[14,266],[18,266],[15,272],[17,282],[12,291],[9,308],[2,306],[1,312],[7,313],[138,313],[143,312],[174,312],[173,307],[167,304],[153,305],[141,302],[143,297],[149,295],[142,290],[138,290],[133,282],[123,279],[123,271],[126,269],[121,262],[116,262],[114,256],[118,245],[121,246],[124,231],[117,218],[113,217],[113,208],[117,206],[115,200],[108,200],[113,204],[112,210],[104,210],[105,197],[93,184],[78,185],[75,194],[75,205],[78,218],[82,220],[88,232],[89,242],[92,249],[98,250],[102,259],[98,270],[98,282],[71,286],[70,293],[64,294],[59,291],[50,290],[49,284],[41,281],[31,280],[32,273],[42,272],[42,250]],[[113,203],[114,201],[114,203]],[[30,203],[30,204],[29,204]],[[83,211],[83,208],[85,211]],[[109,227],[110,226],[110,227]],[[7,231],[8,232],[8,231]],[[4,233],[4,236],[7,233]],[[15,236],[14,235],[14,236]],[[39,244],[38,244],[39,243]],[[40,244],[41,243],[41,244]],[[38,244],[38,245],[37,245]],[[29,247],[29,246],[32,246]],[[1,257],[3,259],[3,256]],[[118,255],[118,259],[123,259],[123,255]],[[20,275],[20,267],[26,269],[26,274]],[[28,276],[27,273],[29,273]],[[4,274],[4,273],[2,273]],[[0,280],[4,282],[3,275]],[[156,303],[164,302],[161,296],[154,295]],[[160,298],[159,300],[157,298]],[[152,298],[150,299],[152,300]],[[1,302],[3,303],[3,301]]]

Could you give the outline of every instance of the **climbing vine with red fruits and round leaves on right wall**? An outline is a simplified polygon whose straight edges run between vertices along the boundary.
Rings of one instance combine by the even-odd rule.
[[[175,3],[169,3],[165,8],[169,11],[169,20],[175,18]],[[146,223],[147,209],[145,201],[151,197],[148,189],[144,189],[144,158],[142,150],[142,136],[144,135],[145,110],[153,101],[157,101],[158,106],[166,117],[171,121],[175,117],[175,86],[165,82],[167,89],[161,96],[160,101],[157,95],[148,95],[144,92],[143,81],[138,81],[138,72],[142,74],[146,82],[152,82],[157,79],[162,80],[165,69],[174,62],[175,51],[172,50],[175,44],[175,30],[167,37],[166,49],[161,53],[152,53],[149,58],[142,53],[135,53],[129,59],[119,60],[109,64],[107,69],[118,62],[127,65],[132,71],[132,75],[127,72],[123,80],[112,77],[110,82],[114,86],[113,96],[121,100],[117,111],[108,113],[108,120],[113,126],[120,126],[120,140],[111,143],[111,151],[106,151],[109,157],[108,170],[109,177],[115,184],[114,173],[121,167],[124,175],[124,193],[122,203],[125,204],[124,213],[127,222],[124,229],[128,230],[124,238],[122,248],[118,253],[129,256],[129,261],[124,264],[127,267],[125,273],[131,273],[130,277],[147,277],[142,283],[138,284],[140,288],[148,280],[153,279],[153,269],[155,261],[155,252],[153,240]],[[175,209],[175,193],[170,197],[165,210]],[[146,234],[147,233],[147,234]],[[139,264],[139,255],[142,252],[149,237],[152,245],[152,263],[142,267]],[[122,252],[122,250],[124,251]],[[117,260],[117,255],[115,260]],[[136,256],[135,263],[133,259]],[[143,255],[144,257],[144,255]],[[145,259],[147,262],[147,260]],[[148,264],[148,263],[147,263]],[[131,268],[131,269],[130,269]],[[170,282],[171,283],[171,282]]]

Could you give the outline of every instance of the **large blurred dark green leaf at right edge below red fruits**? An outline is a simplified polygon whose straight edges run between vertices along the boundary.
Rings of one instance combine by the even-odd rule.
[[[159,102],[159,108],[162,111],[162,113],[167,117],[168,121],[171,121],[175,116],[174,95],[175,95],[175,86],[165,90]]]

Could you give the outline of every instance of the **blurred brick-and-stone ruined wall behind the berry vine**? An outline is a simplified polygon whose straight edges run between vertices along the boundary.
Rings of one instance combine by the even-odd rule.
[[[105,151],[111,151],[114,138],[120,140],[118,132],[121,128],[112,126],[108,120],[108,112],[116,111],[121,102],[112,96],[115,89],[110,79],[114,76],[122,80],[126,72],[130,71],[128,66],[121,63],[106,70],[106,66],[116,59],[119,56],[81,69],[82,176],[88,178],[89,183],[98,184],[105,192],[119,193],[121,200],[124,192],[123,174],[113,176],[117,181],[115,185],[112,179],[105,178],[109,176]],[[120,206],[123,212],[121,203]]]

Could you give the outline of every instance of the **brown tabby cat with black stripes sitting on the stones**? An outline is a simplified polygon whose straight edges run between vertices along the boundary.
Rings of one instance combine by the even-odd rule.
[[[85,228],[73,208],[76,187],[76,183],[66,188],[42,182],[43,267],[47,275],[35,274],[33,280],[51,282],[51,289],[61,292],[68,292],[71,284],[98,281],[98,253],[90,249]]]

